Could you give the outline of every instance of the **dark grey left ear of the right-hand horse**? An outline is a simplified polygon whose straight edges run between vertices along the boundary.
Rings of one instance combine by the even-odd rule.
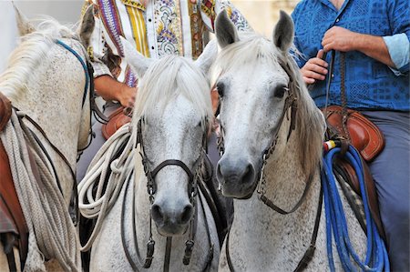
[[[216,18],[215,33],[218,43],[222,48],[226,45],[231,45],[240,40],[236,26],[233,25],[231,19],[226,13],[226,10],[220,12],[220,14]]]

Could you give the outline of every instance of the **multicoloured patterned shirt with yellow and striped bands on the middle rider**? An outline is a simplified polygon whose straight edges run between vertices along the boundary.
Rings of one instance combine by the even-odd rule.
[[[94,76],[111,75],[134,86],[136,76],[121,59],[119,36],[124,36],[146,56],[184,55],[197,58],[205,33],[213,32],[214,20],[226,9],[239,30],[250,26],[230,2],[224,0],[87,0],[94,5],[96,26],[87,48]]]

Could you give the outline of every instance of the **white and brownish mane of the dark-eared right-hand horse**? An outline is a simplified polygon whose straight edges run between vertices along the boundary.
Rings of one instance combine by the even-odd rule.
[[[274,68],[280,65],[280,61],[289,65],[294,76],[298,101],[295,132],[300,145],[299,157],[305,172],[313,173],[317,165],[321,163],[324,118],[309,95],[299,67],[291,55],[283,55],[272,41],[262,35],[251,32],[240,33],[240,41],[227,45],[218,55],[212,69],[212,84],[221,74],[228,71],[234,73],[236,67],[267,62]]]

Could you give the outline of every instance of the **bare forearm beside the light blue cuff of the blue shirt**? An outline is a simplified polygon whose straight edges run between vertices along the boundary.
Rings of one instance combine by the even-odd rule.
[[[384,65],[395,68],[389,50],[381,36],[357,33],[356,38],[354,38],[354,49],[384,63]]]

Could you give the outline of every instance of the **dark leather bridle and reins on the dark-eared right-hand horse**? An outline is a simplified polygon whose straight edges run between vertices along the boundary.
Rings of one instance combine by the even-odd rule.
[[[286,210],[282,209],[281,207],[276,206],[272,202],[271,199],[269,199],[267,196],[265,196],[265,194],[266,194],[266,189],[265,189],[266,180],[265,180],[265,176],[264,176],[264,168],[267,164],[267,160],[269,159],[269,157],[272,155],[272,153],[275,150],[275,147],[276,147],[276,144],[277,144],[277,141],[278,141],[278,137],[279,137],[279,131],[282,127],[284,117],[286,116],[287,120],[291,121],[291,125],[289,127],[289,132],[288,132],[288,136],[287,136],[287,141],[289,140],[289,138],[292,134],[292,131],[296,128],[296,112],[297,112],[298,106],[297,106],[297,96],[296,96],[296,90],[295,90],[296,85],[295,85],[295,82],[293,80],[293,78],[295,76],[293,75],[292,70],[291,70],[288,63],[280,61],[280,65],[282,66],[282,69],[285,71],[285,73],[289,76],[289,85],[288,85],[288,88],[287,88],[288,96],[286,97],[285,104],[284,104],[283,111],[282,111],[282,115],[281,115],[281,118],[279,119],[278,129],[276,130],[274,136],[272,137],[271,145],[269,147],[267,147],[262,153],[262,166],[261,166],[261,171],[259,173],[259,180],[258,180],[258,183],[256,184],[256,186],[257,186],[256,192],[258,194],[258,198],[267,207],[270,207],[271,209],[273,209],[277,213],[280,213],[281,215],[289,215],[289,214],[292,214],[293,212],[295,212],[299,207],[302,206],[302,203],[303,203],[304,199],[307,196],[309,188],[311,187],[311,185],[313,183],[314,174],[310,173],[310,175],[307,178],[306,186],[304,187],[302,196],[300,197],[298,202],[295,204],[295,206],[292,207],[292,209],[289,210],[289,211],[286,211]],[[291,116],[289,116],[289,114],[288,114],[289,109],[291,109]],[[220,156],[222,156],[223,152],[224,152],[223,136],[224,136],[224,130],[223,130],[223,127],[220,125],[220,138],[218,139],[218,142],[217,142],[218,148],[220,150]],[[251,196],[246,196],[245,198],[249,198],[249,197],[251,197]],[[310,243],[310,246],[306,249],[305,253],[303,254],[302,259],[299,261],[298,266],[295,268],[294,271],[302,271],[305,267],[308,266],[309,262],[313,258],[316,239],[317,239],[319,225],[320,225],[320,218],[321,218],[321,215],[322,215],[322,205],[323,205],[323,189],[322,189],[322,186],[321,186],[321,191],[320,191],[320,196],[319,196],[319,203],[318,203],[318,208],[317,208],[317,212],[316,212],[311,243]],[[228,231],[228,234],[227,234],[225,252],[226,252],[228,267],[230,268],[231,271],[235,271],[235,269],[233,267],[233,264],[232,264],[232,261],[231,261],[230,250],[229,250],[230,233],[231,233],[231,229],[230,229],[230,231]]]

